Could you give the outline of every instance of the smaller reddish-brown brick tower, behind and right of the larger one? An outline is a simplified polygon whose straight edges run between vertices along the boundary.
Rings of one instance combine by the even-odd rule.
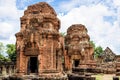
[[[94,49],[89,42],[90,37],[87,29],[82,24],[75,24],[68,28],[65,37],[65,67],[68,70],[72,68],[94,67],[93,52]]]

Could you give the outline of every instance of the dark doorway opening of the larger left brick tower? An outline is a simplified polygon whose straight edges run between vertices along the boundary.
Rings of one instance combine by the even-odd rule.
[[[30,57],[30,73],[38,72],[38,60],[37,57]]]

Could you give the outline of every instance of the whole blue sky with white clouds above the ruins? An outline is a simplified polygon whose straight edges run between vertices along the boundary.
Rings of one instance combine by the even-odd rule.
[[[15,43],[20,17],[27,6],[47,2],[61,20],[60,32],[72,24],[83,24],[97,46],[120,55],[120,0],[0,0],[0,42]]]

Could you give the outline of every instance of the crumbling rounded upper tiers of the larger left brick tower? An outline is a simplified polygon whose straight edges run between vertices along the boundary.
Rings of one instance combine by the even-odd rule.
[[[20,20],[21,31],[32,29],[33,26],[38,30],[49,28],[58,32],[60,29],[60,20],[55,10],[46,2],[28,6]]]

